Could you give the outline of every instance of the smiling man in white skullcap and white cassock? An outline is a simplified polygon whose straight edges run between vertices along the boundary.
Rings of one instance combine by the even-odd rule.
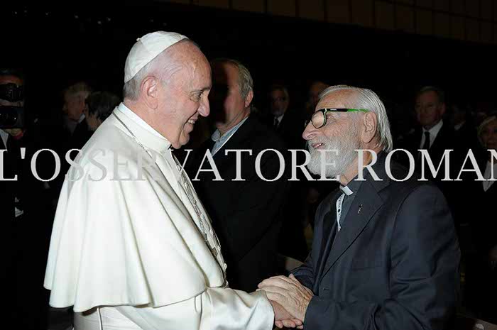
[[[131,48],[124,80],[124,103],[84,145],[60,194],[50,304],[74,306],[76,330],[271,329],[283,309],[227,287],[209,217],[170,153],[209,114],[209,62],[183,35],[149,33]]]

